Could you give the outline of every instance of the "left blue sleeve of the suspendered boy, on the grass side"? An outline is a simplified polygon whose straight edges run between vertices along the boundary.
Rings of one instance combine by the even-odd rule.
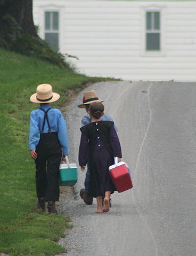
[[[29,150],[35,150],[40,139],[40,131],[35,115],[35,111],[30,114],[30,128],[29,128]]]

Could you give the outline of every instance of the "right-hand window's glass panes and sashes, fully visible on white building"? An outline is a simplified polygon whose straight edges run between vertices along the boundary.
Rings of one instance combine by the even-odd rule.
[[[145,13],[145,50],[161,50],[160,12],[147,11]]]

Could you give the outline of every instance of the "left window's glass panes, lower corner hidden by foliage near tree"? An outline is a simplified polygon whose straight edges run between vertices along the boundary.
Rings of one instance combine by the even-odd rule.
[[[45,12],[45,40],[53,50],[59,50],[59,12]]]

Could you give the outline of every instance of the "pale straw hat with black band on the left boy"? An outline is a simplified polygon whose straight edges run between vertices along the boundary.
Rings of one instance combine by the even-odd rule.
[[[30,101],[34,103],[51,103],[60,98],[59,94],[52,92],[50,84],[39,84],[36,94],[30,96]]]

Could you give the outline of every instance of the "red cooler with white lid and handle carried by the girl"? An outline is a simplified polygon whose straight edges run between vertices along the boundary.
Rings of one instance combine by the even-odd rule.
[[[109,166],[109,172],[119,193],[133,188],[130,170],[125,162],[118,162],[118,158],[115,157],[115,164]]]

